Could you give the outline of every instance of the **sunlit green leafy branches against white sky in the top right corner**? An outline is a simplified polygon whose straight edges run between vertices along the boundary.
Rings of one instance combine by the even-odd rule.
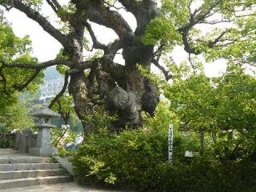
[[[254,0],[161,2],[162,15],[147,27],[145,44],[164,45],[166,53],[183,43],[186,51],[203,53],[207,61],[254,54]]]

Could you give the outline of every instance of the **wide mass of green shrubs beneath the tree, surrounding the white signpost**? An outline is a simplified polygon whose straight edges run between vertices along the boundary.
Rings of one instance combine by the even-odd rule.
[[[171,119],[168,105],[160,103],[157,116],[145,118],[144,126],[149,128],[125,130],[121,134],[107,130],[90,134],[74,154],[78,181],[139,191],[256,191],[256,134],[253,131],[242,132],[245,138],[218,135],[216,142],[206,134],[205,153],[198,158],[186,158],[186,150],[200,150],[199,135],[191,132],[185,136],[173,120],[174,159],[170,166],[167,152]],[[230,158],[230,154],[237,158]]]

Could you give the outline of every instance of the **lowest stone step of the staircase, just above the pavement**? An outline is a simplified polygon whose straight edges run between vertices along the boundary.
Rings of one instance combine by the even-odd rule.
[[[71,178],[69,176],[1,179],[0,189],[5,190],[5,189],[10,189],[15,187],[50,185],[50,184],[70,182],[70,181],[71,181]]]

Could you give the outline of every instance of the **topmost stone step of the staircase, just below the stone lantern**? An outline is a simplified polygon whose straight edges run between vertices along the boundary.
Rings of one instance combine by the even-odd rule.
[[[46,163],[50,162],[51,158],[38,158],[38,157],[15,157],[15,158],[0,158],[0,164],[9,163]]]

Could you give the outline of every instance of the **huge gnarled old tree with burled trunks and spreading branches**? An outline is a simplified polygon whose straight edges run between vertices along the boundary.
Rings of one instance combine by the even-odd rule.
[[[31,65],[12,62],[1,57],[2,84],[5,69],[34,70],[25,80],[25,85],[34,81],[39,71],[49,66],[62,66],[66,82],[62,91],[51,103],[58,101],[66,88],[74,98],[74,108],[82,121],[84,132],[93,129],[86,122],[86,115],[94,113],[99,101],[106,102],[110,114],[118,116],[114,126],[140,126],[142,111],[154,116],[158,104],[158,91],[143,77],[137,65],[150,70],[154,64],[162,70],[166,80],[171,71],[161,66],[162,55],[170,53],[174,46],[183,46],[191,55],[204,54],[208,59],[229,58],[235,62],[249,57],[254,52],[254,3],[253,0],[70,0],[67,4],[58,0],[0,0],[6,10],[17,9],[62,44],[62,55],[48,62]],[[41,13],[42,3],[54,10],[61,30]],[[137,27],[132,30],[120,10],[134,15]],[[92,23],[114,30],[118,39],[108,45],[99,42]],[[224,25],[220,25],[220,24]],[[203,30],[203,28],[207,30]],[[201,30],[200,30],[201,29]],[[90,35],[92,45],[85,46]],[[104,35],[104,34],[102,34]],[[49,47],[50,48],[50,47]],[[86,58],[85,49],[103,50],[98,57]],[[125,65],[114,62],[122,50]],[[237,59],[238,58],[238,59]],[[242,60],[242,61],[244,61]],[[193,64],[193,62],[191,62]],[[86,73],[85,73],[86,71]],[[68,81],[70,78],[70,81]],[[18,89],[21,85],[12,86]],[[24,85],[23,85],[24,86]],[[3,86],[6,87],[6,86]]]

